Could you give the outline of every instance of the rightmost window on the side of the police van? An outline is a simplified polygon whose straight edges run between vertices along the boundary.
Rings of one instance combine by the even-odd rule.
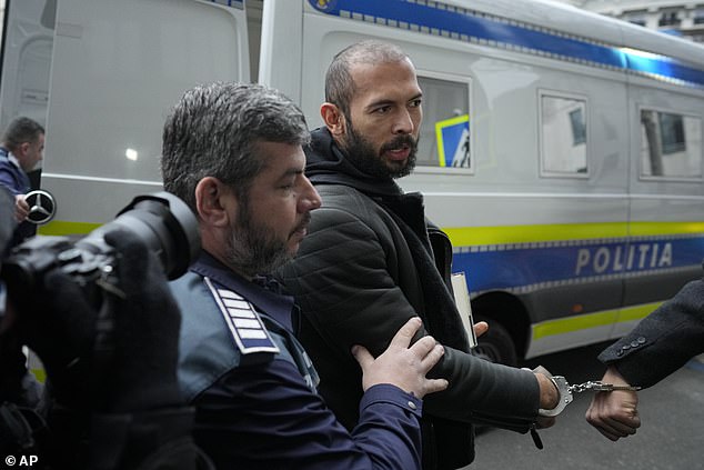
[[[702,119],[641,109],[641,177],[702,178]]]

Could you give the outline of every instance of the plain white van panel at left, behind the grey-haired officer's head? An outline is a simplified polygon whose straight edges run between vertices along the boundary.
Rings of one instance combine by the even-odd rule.
[[[249,81],[247,20],[232,4],[59,0],[42,182],[59,211],[43,233],[105,222],[161,188],[161,130],[183,90]]]

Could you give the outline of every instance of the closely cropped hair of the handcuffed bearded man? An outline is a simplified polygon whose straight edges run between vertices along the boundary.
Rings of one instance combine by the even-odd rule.
[[[358,63],[393,63],[409,59],[400,47],[372,39],[358,42],[341,50],[332,59],[325,73],[325,101],[335,104],[350,119],[350,102],[356,91],[350,73]]]

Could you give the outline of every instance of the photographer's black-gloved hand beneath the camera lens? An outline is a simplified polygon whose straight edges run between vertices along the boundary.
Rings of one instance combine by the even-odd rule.
[[[114,370],[105,371],[110,412],[138,412],[180,406],[177,379],[181,312],[154,252],[134,232],[113,230],[105,242],[118,254],[119,288],[113,298]]]

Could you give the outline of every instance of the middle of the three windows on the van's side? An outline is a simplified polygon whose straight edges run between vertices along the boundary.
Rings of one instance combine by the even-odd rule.
[[[540,92],[541,174],[586,177],[586,98]]]

